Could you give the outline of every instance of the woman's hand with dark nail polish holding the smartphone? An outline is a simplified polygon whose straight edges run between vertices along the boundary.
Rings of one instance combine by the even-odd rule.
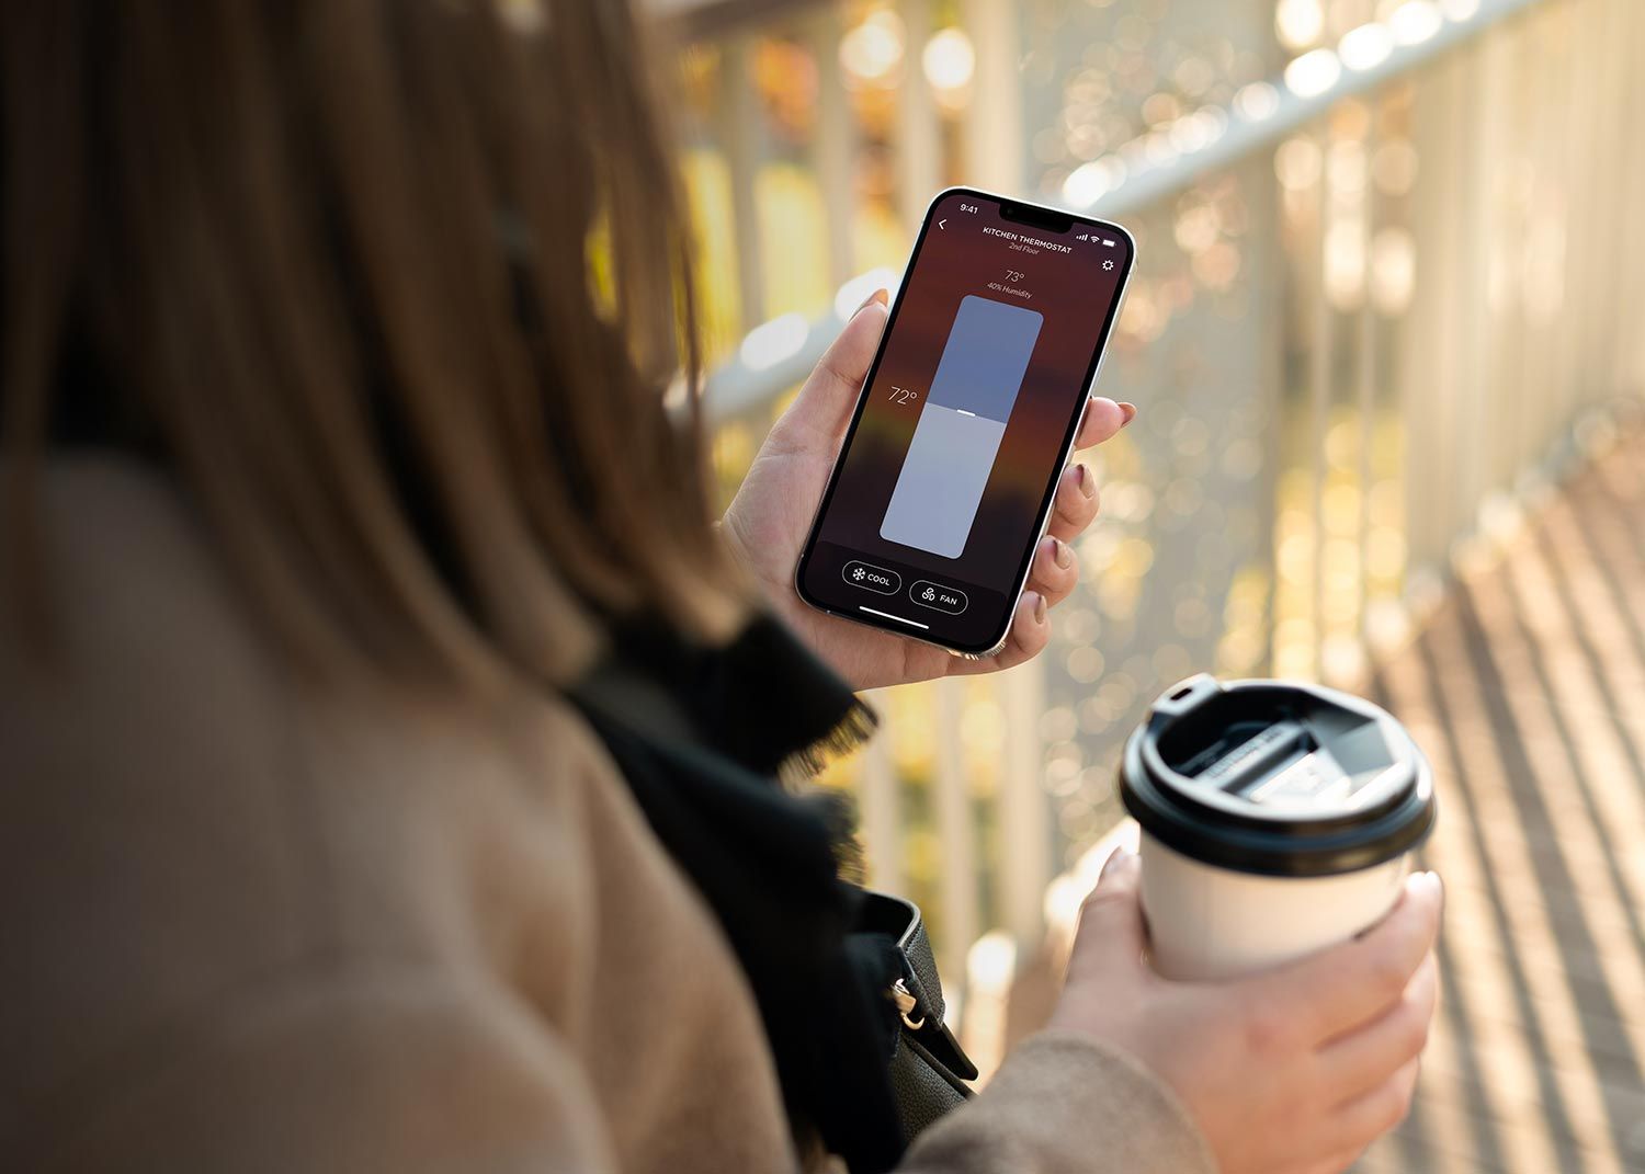
[[[883,289],[865,301],[811,372],[793,406],[772,428],[737,498],[724,534],[790,626],[854,689],[928,681],[952,673],[990,673],[1035,656],[1051,635],[1048,608],[1074,590],[1079,564],[1069,543],[1097,516],[1097,485],[1086,465],[1071,465],[1056,488],[1051,525],[1035,551],[1028,585],[999,654],[980,661],[824,615],[795,594],[795,566],[829,469],[846,439],[857,393],[885,329]],[[1074,447],[1087,449],[1130,423],[1137,409],[1112,400],[1086,404]]]

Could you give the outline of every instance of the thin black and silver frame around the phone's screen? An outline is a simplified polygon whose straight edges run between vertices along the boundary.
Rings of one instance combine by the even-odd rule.
[[[1033,541],[1028,543],[1028,549],[1023,552],[1022,566],[1017,571],[1017,589],[1007,594],[1007,597],[1010,599],[1010,607],[1005,608],[1005,618],[999,636],[992,643],[977,648],[961,648],[944,643],[941,640],[933,640],[931,636],[921,636],[911,631],[908,626],[897,625],[890,620],[882,620],[872,612],[847,612],[836,607],[829,607],[827,603],[822,603],[808,595],[803,584],[803,574],[806,569],[806,562],[811,559],[811,551],[816,546],[818,529],[822,525],[822,515],[827,513],[829,501],[834,500],[834,487],[839,482],[839,474],[846,460],[846,452],[850,449],[850,442],[857,436],[857,424],[862,421],[862,413],[869,404],[867,391],[873,385],[873,377],[880,373],[880,360],[885,357],[885,347],[892,339],[892,330],[897,329],[897,314],[903,306],[903,294],[908,293],[910,286],[908,275],[911,275],[915,271],[915,266],[920,263],[920,250],[924,247],[926,235],[931,232],[931,219],[933,214],[936,212],[936,206],[941,201],[948,199],[949,196],[967,196],[977,201],[987,201],[990,204],[995,204],[1000,210],[1000,219],[1003,220],[1012,220],[1012,217],[1008,215],[1010,209],[1026,209],[1031,214],[1045,214],[1056,219],[1066,217],[1071,222],[1066,232],[1073,232],[1074,225],[1096,227],[1102,229],[1107,233],[1122,237],[1127,245],[1125,266],[1120,271],[1120,283],[1114,293],[1114,301],[1109,306],[1109,316],[1102,322],[1102,329],[1097,332],[1097,344],[1091,357],[1091,365],[1086,368],[1084,395],[1076,401],[1074,413],[1068,423],[1068,431],[1063,436],[1061,457],[1054,462],[1051,474],[1046,480],[1046,488],[1040,500],[1040,516],[1033,529],[1035,536]],[[920,222],[920,233],[915,237],[913,248],[908,253],[908,263],[903,266],[903,280],[897,286],[897,298],[892,299],[890,316],[885,319],[885,330],[880,334],[878,347],[875,347],[873,362],[869,363],[869,373],[864,377],[862,386],[857,388],[857,404],[855,408],[852,408],[850,424],[846,428],[846,439],[841,442],[839,452],[834,455],[834,467],[829,470],[827,487],[822,490],[822,500],[818,501],[816,513],[811,515],[811,526],[806,531],[804,546],[799,548],[799,559],[795,562],[795,594],[799,595],[799,600],[803,603],[826,615],[834,615],[842,620],[850,620],[852,623],[862,623],[869,628],[878,628],[880,631],[890,631],[897,636],[901,636],[905,640],[913,640],[921,645],[933,645],[946,653],[952,653],[954,656],[962,656],[966,659],[985,659],[999,653],[1002,648],[1005,648],[1005,641],[1010,640],[1012,635],[1012,623],[1015,622],[1017,617],[1017,603],[1022,602],[1022,594],[1028,587],[1028,574],[1033,571],[1035,551],[1040,549],[1040,539],[1045,538],[1045,531],[1051,525],[1051,508],[1056,501],[1056,485],[1063,477],[1063,470],[1068,469],[1068,460],[1074,452],[1074,437],[1079,436],[1079,426],[1086,418],[1086,406],[1091,401],[1091,395],[1096,388],[1097,377],[1102,372],[1102,360],[1107,357],[1109,350],[1109,337],[1114,334],[1114,322],[1119,321],[1120,306],[1125,303],[1125,291],[1130,286],[1130,275],[1135,265],[1137,265],[1137,240],[1125,229],[1110,220],[1099,220],[1096,217],[1081,215],[1079,212],[1069,212],[1066,209],[1051,207],[1046,204],[1035,204],[1033,201],[1012,199],[999,192],[982,191],[980,187],[944,187],[943,191],[939,191],[936,196],[931,197],[931,202],[926,206],[924,217]]]

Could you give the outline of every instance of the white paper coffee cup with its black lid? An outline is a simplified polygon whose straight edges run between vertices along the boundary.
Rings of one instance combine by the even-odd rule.
[[[1286,681],[1168,689],[1125,743],[1155,968],[1216,980],[1374,926],[1434,824],[1433,773],[1390,714]]]

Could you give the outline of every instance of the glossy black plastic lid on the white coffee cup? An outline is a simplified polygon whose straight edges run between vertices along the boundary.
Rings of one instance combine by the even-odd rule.
[[[1219,868],[1328,876],[1392,860],[1434,824],[1428,760],[1359,697],[1201,674],[1125,743],[1120,801],[1166,847]]]

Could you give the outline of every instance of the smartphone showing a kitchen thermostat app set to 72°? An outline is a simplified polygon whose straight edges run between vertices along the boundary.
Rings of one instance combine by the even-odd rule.
[[[926,210],[795,587],[990,656],[1010,633],[1137,248],[969,187]]]

